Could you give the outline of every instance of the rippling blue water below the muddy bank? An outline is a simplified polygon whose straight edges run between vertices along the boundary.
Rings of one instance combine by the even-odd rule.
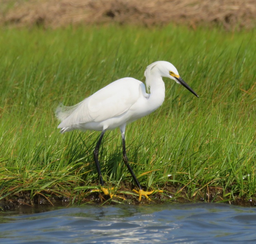
[[[256,208],[88,205],[34,211],[0,213],[0,243],[256,243]]]

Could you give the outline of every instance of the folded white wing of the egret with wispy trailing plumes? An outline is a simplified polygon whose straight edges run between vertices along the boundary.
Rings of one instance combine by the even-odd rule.
[[[114,81],[72,107],[59,107],[56,114],[62,122],[58,128],[120,116],[144,93],[145,86],[139,80],[122,78]]]

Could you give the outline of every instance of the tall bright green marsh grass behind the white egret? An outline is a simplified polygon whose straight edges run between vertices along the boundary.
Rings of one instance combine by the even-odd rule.
[[[61,135],[57,105],[73,105],[122,77],[144,81],[148,64],[166,60],[200,98],[165,79],[162,106],[127,127],[138,180],[171,201],[255,202],[254,36],[172,25],[2,28],[0,199],[93,201],[100,133]],[[106,133],[99,159],[104,181],[129,199],[134,182],[118,129]]]

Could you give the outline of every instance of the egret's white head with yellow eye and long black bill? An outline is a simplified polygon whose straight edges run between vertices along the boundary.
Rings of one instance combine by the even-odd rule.
[[[181,84],[184,87],[186,87],[188,91],[190,91],[196,97],[198,97],[194,90],[180,77],[179,72],[174,67],[174,65],[167,61],[156,61],[148,65],[144,75],[146,78],[149,76],[160,76],[170,78],[171,80],[176,81],[178,84]]]

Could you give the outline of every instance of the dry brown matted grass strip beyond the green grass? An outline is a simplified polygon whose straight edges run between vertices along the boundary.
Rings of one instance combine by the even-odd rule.
[[[1,25],[61,27],[117,22],[145,26],[183,23],[256,26],[255,0],[0,0]]]

